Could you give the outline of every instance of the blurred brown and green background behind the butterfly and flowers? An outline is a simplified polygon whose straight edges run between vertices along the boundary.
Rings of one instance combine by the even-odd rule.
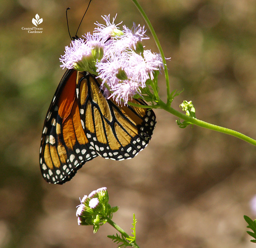
[[[140,247],[255,247],[243,215],[255,218],[255,147],[197,126],[180,129],[175,116],[155,110],[148,147],[132,160],[94,158],[64,185],[46,183],[39,146],[46,111],[64,73],[59,57],[89,1],[1,1],[0,8],[0,247],[116,247],[108,224],[97,234],[78,226],[79,197],[107,187],[120,206],[113,220],[130,233],[132,213]],[[255,0],[140,0],[168,61],[171,89],[192,100],[196,117],[256,138]],[[101,15],[144,25],[132,1],[93,0],[78,36]],[[29,34],[32,18],[42,34]],[[151,37],[150,33],[147,35]],[[153,39],[146,48],[157,52]],[[164,76],[160,96],[166,99]]]

